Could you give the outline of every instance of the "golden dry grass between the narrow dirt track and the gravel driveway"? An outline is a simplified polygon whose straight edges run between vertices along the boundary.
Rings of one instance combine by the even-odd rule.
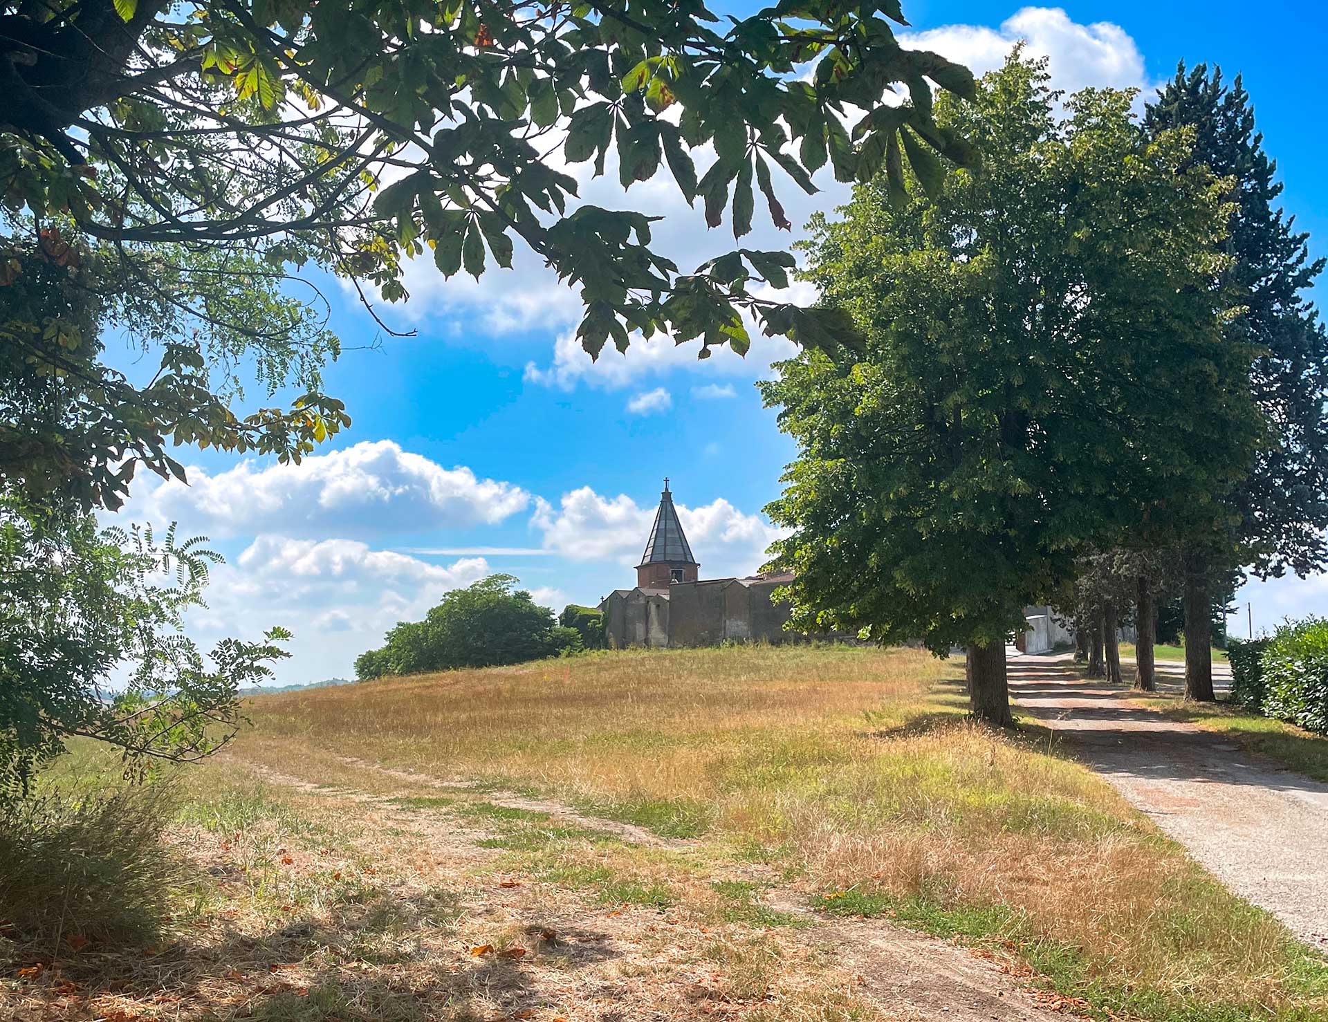
[[[1328,1003],[1278,922],[1045,733],[964,719],[959,674],[915,650],[615,653],[258,698],[238,754],[529,787],[766,849],[818,891],[851,889],[851,904],[959,913],[942,928],[1000,909],[1001,930],[1044,957],[1070,949],[1089,984]]]

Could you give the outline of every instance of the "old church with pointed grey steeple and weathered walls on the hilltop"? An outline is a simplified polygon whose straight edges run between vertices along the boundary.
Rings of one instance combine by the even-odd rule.
[[[604,640],[612,649],[627,646],[714,646],[736,642],[805,641],[785,632],[790,607],[770,593],[793,579],[790,573],[749,575],[744,579],[701,579],[701,565],[683,532],[673,494],[664,479],[655,526],[636,565],[636,588],[615,589],[599,609]]]

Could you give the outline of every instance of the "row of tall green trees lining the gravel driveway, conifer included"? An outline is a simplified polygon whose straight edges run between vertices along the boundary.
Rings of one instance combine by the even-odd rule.
[[[887,165],[818,216],[807,279],[866,342],[762,385],[799,445],[769,507],[794,624],[965,646],[996,723],[1025,605],[1112,632],[1133,605],[1150,688],[1181,592],[1186,694],[1211,699],[1215,597],[1328,553],[1323,261],[1239,78],[1182,66],[1137,102],[1061,97],[1019,50],[940,97],[980,170]]]

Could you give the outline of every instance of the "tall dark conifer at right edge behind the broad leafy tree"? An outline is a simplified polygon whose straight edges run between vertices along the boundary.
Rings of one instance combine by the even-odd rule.
[[[1328,565],[1328,334],[1305,297],[1324,260],[1309,257],[1308,235],[1278,204],[1276,163],[1239,76],[1228,85],[1220,68],[1182,64],[1149,104],[1145,125],[1154,134],[1189,127],[1191,159],[1232,183],[1231,263],[1219,283],[1243,315],[1226,333],[1258,348],[1251,390],[1275,430],[1227,495],[1236,519],[1186,543],[1186,695],[1211,699],[1208,621],[1226,575],[1246,565],[1258,577],[1303,576]]]

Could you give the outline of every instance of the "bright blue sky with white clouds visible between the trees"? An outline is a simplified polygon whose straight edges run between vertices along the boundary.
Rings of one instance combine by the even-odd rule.
[[[1328,143],[1316,123],[1328,16],[1319,5],[906,0],[904,11],[908,45],[981,72],[1027,38],[1066,89],[1151,90],[1179,58],[1243,72],[1287,208],[1328,236],[1319,183]],[[708,232],[663,178],[625,198],[610,178],[587,181],[583,195],[667,216],[660,235],[684,268],[732,247],[726,228]],[[795,224],[843,202],[842,187],[818,183],[825,191],[810,199],[784,188]],[[761,230],[754,247],[799,235]],[[758,341],[745,360],[708,362],[691,346],[651,344],[591,365],[571,341],[575,296],[534,260],[518,255],[514,271],[478,284],[444,281],[425,260],[409,287],[405,307],[380,311],[414,329],[410,338],[380,336],[352,297],[329,288],[332,325],[357,350],[329,368],[327,389],[353,425],[317,457],[278,469],[189,451],[187,490],[139,476],[126,516],[178,519],[227,559],[210,608],[191,619],[202,641],[283,624],[296,634],[295,656],[279,668],[291,684],[349,676],[355,656],[397,620],[494,571],[518,575],[556,608],[594,604],[632,584],[664,475],[703,576],[758,567],[776,535],[761,508],[778,495],[793,447],[753,384],[786,342]],[[1240,599],[1252,601],[1258,629],[1328,612],[1328,583],[1280,580]]]

